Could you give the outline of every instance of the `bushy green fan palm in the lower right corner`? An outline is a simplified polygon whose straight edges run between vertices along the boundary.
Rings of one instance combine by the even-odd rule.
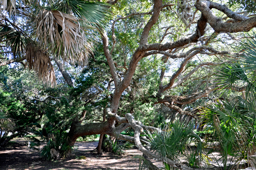
[[[209,109],[206,110],[205,116],[208,123],[215,128],[214,133],[221,147],[220,155],[224,169],[228,165],[228,156],[232,157],[231,160],[236,158],[237,162],[244,159],[252,167],[256,165],[254,158],[251,157],[252,152],[255,152],[253,146],[256,144],[256,112],[247,109],[248,106],[254,107],[247,102],[242,98],[232,102],[216,101],[209,103]]]

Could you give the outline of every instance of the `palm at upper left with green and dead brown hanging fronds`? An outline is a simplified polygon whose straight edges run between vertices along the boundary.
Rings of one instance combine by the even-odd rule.
[[[85,0],[0,0],[1,42],[11,49],[12,58],[28,62],[44,82],[55,84],[51,58],[85,65],[93,52],[95,33],[106,25],[106,3]],[[9,17],[8,17],[9,15]],[[15,21],[27,22],[26,26]],[[30,35],[32,33],[32,35]]]

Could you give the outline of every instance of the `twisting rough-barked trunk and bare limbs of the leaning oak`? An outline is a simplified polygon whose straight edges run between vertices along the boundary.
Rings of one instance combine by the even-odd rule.
[[[136,70],[137,63],[143,57],[146,57],[148,55],[163,54],[169,58],[184,58],[184,61],[183,63],[181,63],[180,68],[177,70],[177,72],[175,72],[175,74],[170,79],[169,84],[160,86],[159,93],[158,93],[159,95],[157,96],[158,101],[155,104],[163,103],[168,105],[168,107],[177,110],[178,112],[180,112],[180,114],[187,114],[187,115],[196,117],[195,113],[198,112],[198,110],[194,110],[193,112],[186,112],[183,109],[181,109],[182,107],[177,107],[175,104],[185,105],[185,104],[189,104],[196,101],[198,98],[207,97],[209,92],[212,92],[214,89],[216,89],[216,86],[210,86],[204,89],[202,92],[196,92],[186,96],[166,96],[164,98],[160,98],[161,95],[166,90],[180,85],[183,81],[185,81],[188,77],[190,77],[194,72],[196,72],[201,66],[220,64],[220,63],[212,63],[212,62],[200,63],[198,66],[195,67],[195,69],[192,69],[186,75],[178,78],[178,76],[184,71],[186,64],[196,54],[201,53],[201,54],[207,54],[207,55],[214,55],[214,54],[227,55],[230,53],[225,51],[218,52],[209,46],[196,47],[194,49],[189,50],[189,52],[185,54],[180,54],[180,55],[169,54],[169,51],[167,52],[167,50],[172,51],[174,49],[176,50],[180,47],[186,46],[190,43],[197,43],[198,40],[200,40],[200,38],[205,34],[207,23],[209,23],[212,29],[215,30],[216,34],[218,34],[219,32],[246,32],[256,27],[256,17],[250,17],[250,18],[243,17],[239,14],[232,12],[227,7],[222,6],[221,4],[212,3],[210,1],[197,1],[195,6],[197,10],[201,12],[201,17],[197,22],[195,33],[192,36],[177,40],[175,42],[168,42],[165,44],[162,44],[162,43],[147,44],[148,34],[152,26],[157,22],[160,12],[163,9],[162,0],[154,0],[154,7],[151,13],[151,18],[143,29],[143,32],[140,37],[140,45],[132,55],[131,61],[129,63],[129,67],[126,70],[122,81],[119,79],[116,72],[116,67],[118,67],[118,65],[117,64],[115,65],[115,62],[112,60],[111,53],[113,49],[110,52],[108,48],[108,45],[109,45],[108,36],[106,32],[102,32],[101,36],[103,41],[105,57],[107,59],[108,66],[110,67],[110,72],[113,77],[113,81],[115,83],[115,91],[113,92],[111,105],[110,105],[110,108],[107,109],[107,113],[106,113],[107,121],[102,123],[90,123],[86,125],[81,125],[79,121],[74,121],[69,132],[70,145],[73,145],[74,142],[76,141],[76,138],[81,135],[108,134],[117,139],[134,141],[137,147],[143,152],[143,154],[145,154],[149,158],[154,158],[159,161],[166,162],[172,167],[180,170],[194,170],[194,168],[187,167],[183,164],[172,161],[168,158],[161,158],[160,156],[156,156],[150,151],[148,151],[147,149],[145,149],[141,144],[141,141],[143,139],[140,138],[140,133],[145,129],[148,129],[148,130],[158,130],[158,129],[154,127],[146,127],[141,122],[135,121],[130,113],[126,114],[125,118],[122,118],[122,117],[119,117],[116,114],[116,112],[119,107],[119,100],[122,96],[122,93],[131,83],[131,79]],[[232,18],[235,21],[233,23],[223,23],[221,20],[218,20],[218,18],[215,17],[213,12],[211,11],[212,8],[217,9],[221,12],[224,12],[225,14],[227,14],[228,17]],[[112,36],[113,36],[113,33],[112,33]],[[209,43],[209,39],[206,42],[206,44]],[[209,52],[207,52],[206,50]],[[164,72],[163,72],[163,75],[164,75]],[[163,75],[161,74],[161,78],[163,78]],[[119,126],[117,127],[114,126],[116,122],[119,122]],[[120,134],[123,130],[125,130],[128,127],[132,127],[134,129],[135,131],[134,137]],[[223,167],[199,168],[199,170],[222,170],[222,169]]]

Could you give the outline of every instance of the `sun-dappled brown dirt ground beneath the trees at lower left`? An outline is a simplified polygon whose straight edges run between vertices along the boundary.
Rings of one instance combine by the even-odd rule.
[[[142,155],[137,149],[126,150],[122,156],[112,153],[104,153],[102,156],[96,153],[85,153],[85,150],[93,150],[98,142],[77,142],[76,150],[72,156],[58,161],[43,161],[39,153],[29,152],[26,140],[16,140],[7,148],[0,148],[0,170],[138,170],[139,162],[131,158],[134,155]],[[86,159],[78,160],[79,156]],[[39,164],[34,164],[39,163]],[[157,167],[162,167],[161,162],[154,162]]]

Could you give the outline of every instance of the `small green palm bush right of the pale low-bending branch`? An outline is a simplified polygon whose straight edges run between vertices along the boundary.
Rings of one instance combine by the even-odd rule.
[[[197,167],[201,161],[203,144],[201,138],[193,133],[193,125],[184,122],[175,121],[170,124],[166,131],[155,133],[152,135],[147,133],[150,141],[151,151],[164,158],[178,160],[178,156],[186,156],[186,147],[192,141],[197,144],[195,152],[189,155],[189,165]],[[194,160],[197,158],[198,160]],[[197,165],[196,165],[197,164]],[[168,164],[165,164],[166,169],[170,169]]]

